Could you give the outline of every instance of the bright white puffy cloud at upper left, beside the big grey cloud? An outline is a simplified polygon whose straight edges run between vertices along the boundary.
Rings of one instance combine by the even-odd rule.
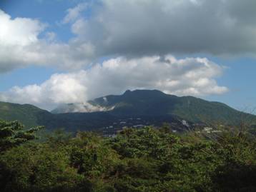
[[[0,73],[29,65],[81,69],[90,64],[94,54],[92,44],[74,39],[69,43],[54,41],[56,34],[46,31],[39,20],[15,18],[0,9]]]

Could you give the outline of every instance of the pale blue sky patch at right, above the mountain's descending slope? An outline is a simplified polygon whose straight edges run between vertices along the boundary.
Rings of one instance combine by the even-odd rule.
[[[213,59],[215,60],[215,59]],[[217,81],[227,86],[230,91],[218,96],[206,96],[212,101],[221,101],[242,111],[254,110],[256,106],[256,91],[253,88],[256,82],[256,60],[253,58],[216,59],[227,66],[223,76]]]

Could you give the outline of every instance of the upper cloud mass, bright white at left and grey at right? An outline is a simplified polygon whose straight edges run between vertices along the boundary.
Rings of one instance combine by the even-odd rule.
[[[89,14],[86,12],[89,5]],[[84,69],[105,56],[255,55],[256,1],[99,0],[67,10],[67,42],[0,9],[0,73],[29,65]]]

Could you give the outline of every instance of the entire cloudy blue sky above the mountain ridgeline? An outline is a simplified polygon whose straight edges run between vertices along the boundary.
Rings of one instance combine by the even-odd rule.
[[[0,0],[0,101],[127,89],[256,107],[255,0]]]

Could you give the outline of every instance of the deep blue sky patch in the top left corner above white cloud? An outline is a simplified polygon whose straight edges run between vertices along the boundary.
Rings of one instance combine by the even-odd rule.
[[[26,17],[39,19],[40,21],[49,24],[49,30],[58,34],[59,39],[67,41],[72,36],[69,26],[59,25],[58,23],[66,15],[67,9],[75,6],[77,1],[69,0],[3,0],[1,9],[13,18]]]

